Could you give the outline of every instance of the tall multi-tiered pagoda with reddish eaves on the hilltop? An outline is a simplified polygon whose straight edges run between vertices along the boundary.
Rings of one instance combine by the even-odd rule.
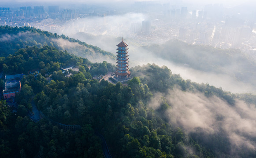
[[[115,72],[115,79],[118,81],[126,81],[130,79],[130,71],[128,68],[128,48],[126,48],[128,44],[123,41],[117,45],[117,71]]]

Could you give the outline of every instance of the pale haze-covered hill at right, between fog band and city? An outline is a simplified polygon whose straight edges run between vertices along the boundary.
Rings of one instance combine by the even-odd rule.
[[[203,72],[226,74],[256,87],[256,61],[241,50],[192,45],[171,39],[161,45],[144,47],[148,52],[179,65]]]

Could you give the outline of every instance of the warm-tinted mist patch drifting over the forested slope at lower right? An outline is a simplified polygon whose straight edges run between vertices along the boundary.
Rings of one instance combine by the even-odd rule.
[[[186,133],[202,133],[201,139],[221,133],[230,143],[230,156],[237,157],[242,150],[256,150],[256,106],[236,100],[234,105],[200,92],[182,91],[178,87],[168,94],[154,95],[149,106],[160,108],[161,97],[171,106],[165,111],[173,126],[182,127]],[[217,140],[215,140],[217,141]],[[210,142],[209,142],[210,143]],[[211,142],[211,144],[214,142]]]

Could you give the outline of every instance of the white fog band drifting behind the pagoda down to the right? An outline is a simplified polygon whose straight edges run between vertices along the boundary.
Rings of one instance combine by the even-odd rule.
[[[255,90],[249,83],[237,81],[234,77],[226,74],[216,74],[212,72],[202,72],[190,68],[186,65],[175,65],[171,61],[163,60],[157,54],[152,54],[141,46],[152,44],[148,42],[154,41],[154,36],[145,35],[145,41],[137,36],[133,31],[133,27],[141,27],[141,22],[147,20],[148,17],[144,14],[124,14],[107,17],[82,18],[63,25],[58,34],[65,34],[69,37],[79,39],[88,44],[100,47],[103,50],[116,53],[116,45],[121,42],[123,37],[124,42],[129,46],[130,67],[135,65],[143,65],[147,63],[155,63],[157,65],[166,65],[175,74],[180,74],[184,79],[191,79],[197,83],[209,83],[216,87],[222,87],[223,90],[232,93],[253,93]],[[50,30],[49,30],[50,31]],[[161,37],[157,37],[161,39]],[[163,43],[168,39],[162,38],[157,40],[158,43]],[[110,61],[108,61],[110,62]],[[115,64],[115,63],[114,63]],[[184,63],[185,64],[185,63]]]

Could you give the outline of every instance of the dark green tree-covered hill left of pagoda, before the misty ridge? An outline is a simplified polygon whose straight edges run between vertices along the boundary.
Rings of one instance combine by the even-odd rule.
[[[74,54],[67,53],[67,51],[63,52],[47,45],[41,48],[37,46],[22,48],[15,52],[15,54],[0,57],[0,72],[4,72],[7,75],[17,73],[27,75],[31,71],[38,71],[45,76],[46,74],[52,74],[54,71],[58,72],[60,68],[68,66],[84,67],[87,70],[87,76],[91,76],[91,74],[93,76],[104,75],[108,71],[113,72],[115,70],[115,65],[106,61],[92,63],[86,58],[77,57]]]

